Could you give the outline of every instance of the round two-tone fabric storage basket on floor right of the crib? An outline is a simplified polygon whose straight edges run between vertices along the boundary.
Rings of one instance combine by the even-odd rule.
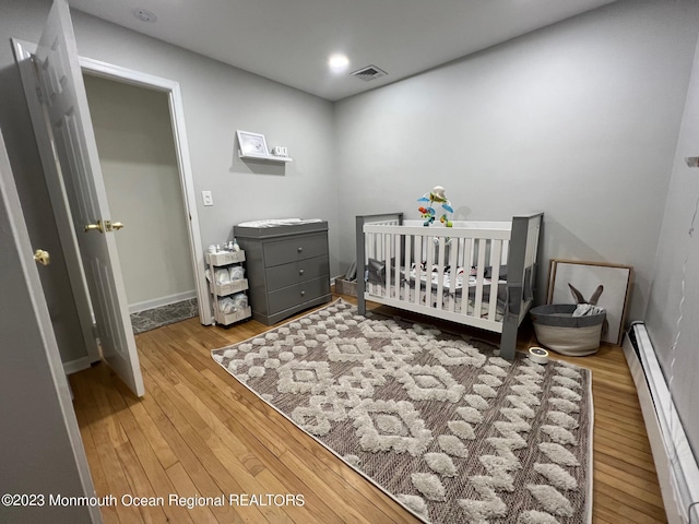
[[[605,313],[573,317],[574,303],[552,303],[530,310],[536,340],[561,355],[592,355],[600,349]]]

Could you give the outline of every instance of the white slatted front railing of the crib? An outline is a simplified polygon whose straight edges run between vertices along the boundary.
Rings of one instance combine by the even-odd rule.
[[[498,282],[500,266],[507,264],[510,226],[365,224],[365,261],[382,270],[381,282],[377,275],[367,282],[368,298],[460,322],[467,315],[472,325],[499,331]]]

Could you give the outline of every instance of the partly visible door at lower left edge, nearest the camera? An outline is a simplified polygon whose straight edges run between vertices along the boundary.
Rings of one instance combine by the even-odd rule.
[[[96,505],[48,503],[49,493],[96,493],[2,133],[0,224],[0,489],[46,497],[44,504],[5,503],[0,521],[102,522]]]

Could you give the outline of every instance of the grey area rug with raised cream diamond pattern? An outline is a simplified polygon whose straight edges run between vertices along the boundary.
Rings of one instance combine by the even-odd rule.
[[[591,522],[591,372],[476,345],[340,299],[212,356],[425,522]]]

